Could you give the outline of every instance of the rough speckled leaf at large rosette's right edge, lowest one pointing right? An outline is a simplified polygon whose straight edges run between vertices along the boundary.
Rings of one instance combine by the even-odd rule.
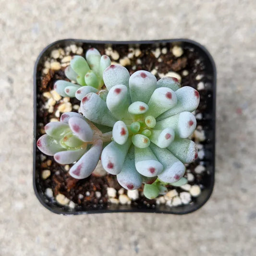
[[[189,139],[175,138],[167,149],[183,163],[192,163],[197,158],[196,144]]]

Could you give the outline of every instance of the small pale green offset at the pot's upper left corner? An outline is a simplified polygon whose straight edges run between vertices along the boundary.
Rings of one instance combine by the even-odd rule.
[[[104,85],[102,75],[110,63],[110,58],[107,55],[101,56],[95,48],[88,49],[85,58],[75,55],[66,67],[65,75],[77,84],[58,80],[54,84],[54,89],[62,97],[76,97],[81,100],[87,93],[98,92]]]

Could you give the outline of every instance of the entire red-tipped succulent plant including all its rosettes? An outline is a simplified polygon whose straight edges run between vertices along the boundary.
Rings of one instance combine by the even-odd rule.
[[[117,175],[122,187],[133,190],[144,183],[150,199],[165,194],[167,184],[187,183],[184,164],[197,158],[188,137],[196,127],[191,112],[199,104],[199,93],[181,87],[173,77],[157,81],[147,71],[130,76],[96,49],[86,52],[86,61],[75,56],[65,70],[79,85],[62,80],[54,85],[61,96],[81,100],[84,117],[69,112],[61,122],[47,124],[38,148],[60,164],[75,162],[70,174],[76,179],[88,177],[101,157],[103,168]],[[106,89],[100,90],[103,84]],[[102,133],[106,127],[112,132]]]

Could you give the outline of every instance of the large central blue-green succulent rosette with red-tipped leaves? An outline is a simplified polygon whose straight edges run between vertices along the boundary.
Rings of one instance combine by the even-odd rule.
[[[156,77],[147,71],[131,76],[121,65],[103,72],[107,90],[90,92],[81,101],[81,112],[91,122],[112,127],[112,142],[101,154],[103,168],[117,175],[128,190],[139,188],[155,198],[165,185],[183,185],[185,163],[197,158],[197,148],[188,137],[196,127],[191,113],[199,93],[181,87],[176,78]],[[74,172],[70,174],[75,177]]]

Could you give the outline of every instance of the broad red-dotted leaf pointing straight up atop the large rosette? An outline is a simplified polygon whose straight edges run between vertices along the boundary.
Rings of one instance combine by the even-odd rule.
[[[157,79],[150,72],[136,71],[129,79],[129,87],[132,102],[142,101],[147,103],[157,88]]]

